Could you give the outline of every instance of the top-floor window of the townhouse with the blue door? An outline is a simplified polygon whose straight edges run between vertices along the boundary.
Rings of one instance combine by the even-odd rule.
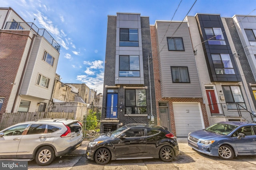
[[[120,28],[120,46],[138,47],[138,29]]]

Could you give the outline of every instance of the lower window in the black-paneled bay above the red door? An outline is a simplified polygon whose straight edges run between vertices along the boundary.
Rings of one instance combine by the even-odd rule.
[[[235,74],[229,54],[212,54],[216,74]]]

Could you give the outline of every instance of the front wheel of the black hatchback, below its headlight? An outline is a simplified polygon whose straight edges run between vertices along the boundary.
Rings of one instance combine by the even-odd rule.
[[[107,164],[110,158],[110,151],[106,148],[100,148],[94,154],[94,160],[97,164]]]

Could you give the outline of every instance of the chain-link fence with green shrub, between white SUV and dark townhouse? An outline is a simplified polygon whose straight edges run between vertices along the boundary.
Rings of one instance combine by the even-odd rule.
[[[100,133],[102,106],[49,106],[46,117],[76,119],[83,125],[83,137]]]

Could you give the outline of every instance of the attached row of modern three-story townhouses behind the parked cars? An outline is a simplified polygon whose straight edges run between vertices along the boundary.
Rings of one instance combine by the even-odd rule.
[[[108,16],[101,131],[149,123],[186,137],[218,121],[252,121],[255,24],[219,14],[154,25],[140,14]]]

